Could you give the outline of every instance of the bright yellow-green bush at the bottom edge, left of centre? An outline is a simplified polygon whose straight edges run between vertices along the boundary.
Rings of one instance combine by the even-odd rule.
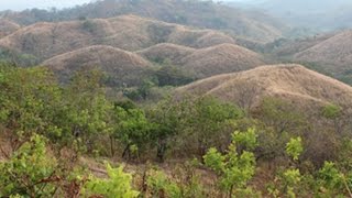
[[[132,176],[123,172],[123,167],[112,168],[107,164],[109,178],[89,177],[89,182],[84,187],[85,196],[103,196],[107,198],[133,198],[139,196],[139,191],[133,190]]]

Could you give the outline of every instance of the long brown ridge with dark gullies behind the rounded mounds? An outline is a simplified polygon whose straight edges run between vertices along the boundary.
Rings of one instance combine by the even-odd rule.
[[[208,47],[234,43],[234,40],[213,30],[197,30],[135,15],[121,15],[111,19],[35,23],[1,38],[0,47],[47,59],[90,45],[138,51],[164,42]]]

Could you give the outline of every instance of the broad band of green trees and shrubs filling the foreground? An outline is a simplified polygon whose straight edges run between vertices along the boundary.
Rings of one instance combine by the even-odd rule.
[[[275,98],[252,111],[195,96],[140,106],[108,99],[103,79],[0,66],[1,197],[351,196],[351,117],[337,105],[316,122]],[[81,162],[101,157],[136,168],[99,177]]]

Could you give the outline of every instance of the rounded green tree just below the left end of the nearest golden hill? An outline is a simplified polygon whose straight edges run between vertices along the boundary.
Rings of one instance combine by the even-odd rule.
[[[243,111],[233,105],[219,101],[211,97],[200,97],[184,101],[187,113],[184,117],[184,140],[197,150],[198,155],[204,155],[211,146],[223,144],[243,118]],[[189,146],[189,145],[186,145]]]

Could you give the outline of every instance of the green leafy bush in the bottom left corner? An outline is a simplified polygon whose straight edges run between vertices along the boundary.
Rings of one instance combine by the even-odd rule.
[[[45,139],[33,135],[9,160],[0,162],[0,197],[52,197],[56,186],[47,180],[56,167],[56,160],[46,152]]]

